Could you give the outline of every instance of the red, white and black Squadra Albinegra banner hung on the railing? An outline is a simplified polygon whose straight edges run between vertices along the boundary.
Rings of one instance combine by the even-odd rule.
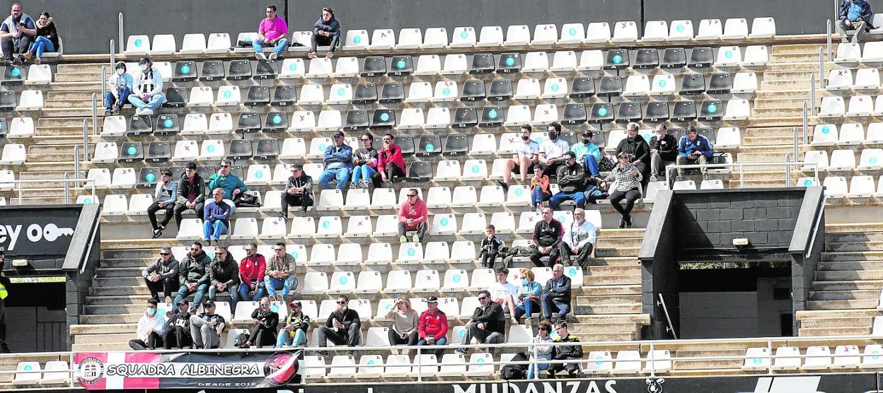
[[[89,390],[248,389],[299,384],[303,351],[77,352],[74,377]]]

